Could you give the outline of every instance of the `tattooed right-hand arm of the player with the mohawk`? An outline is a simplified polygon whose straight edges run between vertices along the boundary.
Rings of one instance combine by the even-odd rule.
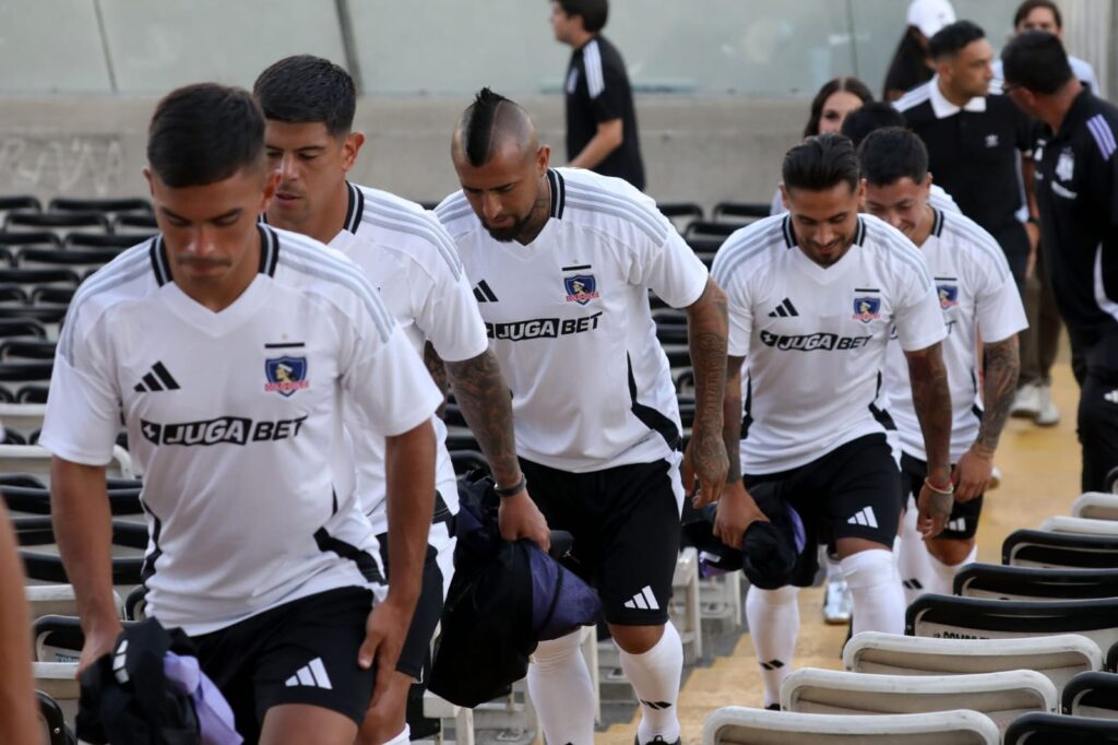
[[[692,438],[698,443],[718,443],[722,432],[722,406],[726,394],[726,349],[729,336],[726,294],[707,280],[702,295],[688,308],[688,342],[695,374],[695,419]],[[698,437],[695,435],[699,435]],[[709,458],[707,447],[693,453],[697,469]]]

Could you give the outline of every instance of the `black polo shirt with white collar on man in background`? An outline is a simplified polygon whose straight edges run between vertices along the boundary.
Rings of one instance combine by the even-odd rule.
[[[1024,204],[1018,151],[1032,152],[1032,121],[1003,95],[974,98],[958,109],[942,97],[937,81],[910,91],[894,105],[928,147],[936,183],[1008,253],[1003,236],[1013,234],[1016,241],[1024,235],[1016,216]]]

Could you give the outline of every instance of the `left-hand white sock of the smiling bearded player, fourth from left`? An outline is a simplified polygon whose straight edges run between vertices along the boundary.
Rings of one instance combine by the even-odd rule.
[[[780,682],[792,669],[799,632],[798,595],[799,588],[793,585],[750,587],[746,595],[746,619],[765,683],[765,706],[780,702]]]

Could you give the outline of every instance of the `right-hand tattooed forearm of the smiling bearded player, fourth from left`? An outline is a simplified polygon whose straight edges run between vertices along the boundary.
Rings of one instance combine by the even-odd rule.
[[[912,404],[928,454],[928,475],[942,483],[950,477],[951,396],[947,389],[947,368],[940,343],[904,352]]]

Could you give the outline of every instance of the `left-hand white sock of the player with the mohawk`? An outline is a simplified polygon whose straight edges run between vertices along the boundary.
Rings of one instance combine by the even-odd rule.
[[[540,642],[528,666],[528,695],[548,743],[594,745],[594,683],[579,650],[582,630]]]

